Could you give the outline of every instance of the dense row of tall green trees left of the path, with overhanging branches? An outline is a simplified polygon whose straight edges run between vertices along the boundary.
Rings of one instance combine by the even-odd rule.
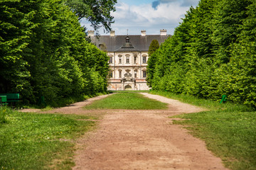
[[[107,2],[106,15],[113,4]],[[82,15],[74,6],[63,0],[0,2],[0,93],[19,93],[23,103],[36,104],[41,96],[51,103],[107,90],[107,54],[87,42],[79,18],[109,30],[112,17]]]

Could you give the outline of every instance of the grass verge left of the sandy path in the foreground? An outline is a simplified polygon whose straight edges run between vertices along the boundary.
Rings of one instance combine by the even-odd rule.
[[[95,126],[82,115],[18,113],[0,123],[0,169],[71,169],[74,140]]]

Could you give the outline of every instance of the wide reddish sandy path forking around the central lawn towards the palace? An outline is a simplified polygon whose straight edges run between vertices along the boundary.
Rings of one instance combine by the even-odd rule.
[[[201,108],[161,96],[144,95],[169,103],[169,109],[89,112],[78,107],[52,111],[104,114],[98,129],[78,140],[73,169],[225,169],[204,142],[189,135],[180,125],[172,125],[168,118],[203,111]]]

